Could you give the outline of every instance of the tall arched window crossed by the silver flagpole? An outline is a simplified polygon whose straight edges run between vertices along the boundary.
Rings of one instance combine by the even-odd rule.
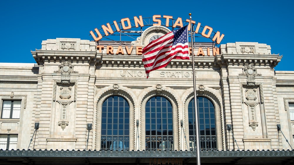
[[[195,108],[194,98],[188,105],[189,144],[190,149],[196,149]],[[200,146],[203,150],[216,150],[216,115],[213,103],[206,97],[197,97],[197,112],[199,123]]]

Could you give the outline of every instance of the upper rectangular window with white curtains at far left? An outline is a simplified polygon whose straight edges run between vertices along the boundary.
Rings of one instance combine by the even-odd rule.
[[[2,106],[1,119],[19,119],[21,101],[4,100]]]

